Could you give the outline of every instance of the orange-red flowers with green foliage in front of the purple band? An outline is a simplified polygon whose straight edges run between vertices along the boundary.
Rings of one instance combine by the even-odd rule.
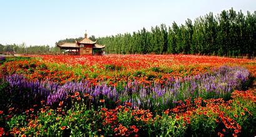
[[[71,100],[71,103],[66,102]],[[90,96],[79,92],[51,108],[41,102],[23,113],[0,111],[0,135],[19,136],[248,136],[255,133],[255,91],[235,91],[232,100],[195,98],[160,111],[133,109],[131,103],[110,109],[105,100],[86,105]]]

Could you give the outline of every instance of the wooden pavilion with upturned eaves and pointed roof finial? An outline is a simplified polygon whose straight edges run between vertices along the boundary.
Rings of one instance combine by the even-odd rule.
[[[105,48],[105,45],[96,44],[96,41],[88,39],[86,33],[79,42],[64,42],[57,46],[59,47],[59,54],[61,54],[61,49],[66,49],[64,54],[68,55],[102,55]]]

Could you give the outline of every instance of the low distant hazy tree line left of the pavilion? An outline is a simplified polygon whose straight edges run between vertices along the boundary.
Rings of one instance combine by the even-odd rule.
[[[22,44],[0,44],[0,54],[11,52],[14,54],[56,54],[58,47],[50,47],[49,45],[29,45]]]

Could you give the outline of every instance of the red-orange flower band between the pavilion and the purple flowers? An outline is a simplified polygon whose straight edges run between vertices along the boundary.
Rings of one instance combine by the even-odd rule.
[[[119,85],[135,80],[143,83],[165,82],[170,77],[198,75],[222,65],[243,65],[254,74],[252,60],[196,55],[41,55],[31,60],[6,62],[5,75],[21,73],[29,80],[51,80],[66,83],[90,80],[98,84]]]

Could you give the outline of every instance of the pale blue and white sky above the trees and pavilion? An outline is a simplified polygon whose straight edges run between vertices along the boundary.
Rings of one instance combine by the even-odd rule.
[[[256,11],[255,0],[0,0],[0,44],[50,45],[84,33],[104,37],[209,12]]]

